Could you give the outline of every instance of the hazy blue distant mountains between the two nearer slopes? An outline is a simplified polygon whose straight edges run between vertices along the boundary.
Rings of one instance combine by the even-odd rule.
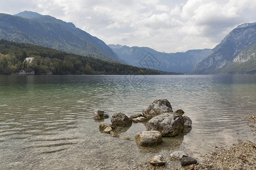
[[[210,49],[188,50],[185,53],[161,53],[147,47],[113,44],[109,46],[118,54],[119,58],[129,65],[149,66],[150,69],[179,73],[188,73],[197,63],[210,54]],[[150,54],[150,59],[154,61],[153,65],[150,65],[146,60],[148,54]]]

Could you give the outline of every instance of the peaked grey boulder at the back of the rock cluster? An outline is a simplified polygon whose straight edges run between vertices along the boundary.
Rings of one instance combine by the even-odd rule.
[[[146,118],[153,118],[162,113],[172,112],[172,106],[167,99],[154,100],[152,104],[148,105],[142,114]]]

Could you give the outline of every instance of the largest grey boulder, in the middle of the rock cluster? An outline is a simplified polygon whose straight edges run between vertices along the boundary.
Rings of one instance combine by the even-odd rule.
[[[184,120],[177,113],[162,113],[146,124],[146,130],[158,130],[163,137],[174,137],[184,129]]]

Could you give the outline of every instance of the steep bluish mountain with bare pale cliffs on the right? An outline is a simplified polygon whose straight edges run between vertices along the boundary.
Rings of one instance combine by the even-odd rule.
[[[256,74],[256,23],[233,29],[191,74]]]

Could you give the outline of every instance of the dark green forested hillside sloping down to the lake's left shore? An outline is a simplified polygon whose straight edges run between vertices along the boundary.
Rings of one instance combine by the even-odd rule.
[[[0,40],[0,74],[180,74],[133,67],[42,46]],[[26,62],[26,57],[34,57]]]

